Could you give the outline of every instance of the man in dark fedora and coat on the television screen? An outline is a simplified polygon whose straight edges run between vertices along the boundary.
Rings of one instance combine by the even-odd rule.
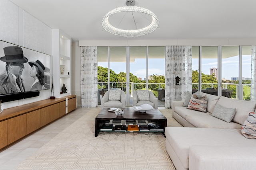
[[[24,57],[21,47],[4,47],[4,57],[0,60],[6,62],[6,70],[0,74],[0,94],[25,92],[23,79],[20,77],[24,70]]]

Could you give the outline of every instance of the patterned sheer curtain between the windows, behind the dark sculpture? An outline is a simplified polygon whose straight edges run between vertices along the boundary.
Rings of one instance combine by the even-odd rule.
[[[192,92],[192,47],[166,46],[165,52],[165,107],[171,108],[172,101],[184,99],[187,90]]]

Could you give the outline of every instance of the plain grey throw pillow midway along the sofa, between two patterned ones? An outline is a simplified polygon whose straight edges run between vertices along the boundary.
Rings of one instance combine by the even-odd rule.
[[[216,104],[216,106],[213,109],[212,116],[230,123],[235,113],[236,113],[236,108],[227,108],[219,104]]]

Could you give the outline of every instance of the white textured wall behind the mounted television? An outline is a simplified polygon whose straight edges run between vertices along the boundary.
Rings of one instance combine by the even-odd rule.
[[[9,0],[0,0],[0,39],[52,55],[52,29]],[[51,68],[52,65],[51,59]],[[40,91],[38,97],[2,103],[2,109],[48,99],[50,96],[50,90]]]

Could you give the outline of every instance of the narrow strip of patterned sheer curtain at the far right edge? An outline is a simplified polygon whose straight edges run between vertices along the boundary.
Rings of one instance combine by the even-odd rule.
[[[251,66],[251,100],[255,101],[256,99],[256,46],[252,46],[252,66]]]

